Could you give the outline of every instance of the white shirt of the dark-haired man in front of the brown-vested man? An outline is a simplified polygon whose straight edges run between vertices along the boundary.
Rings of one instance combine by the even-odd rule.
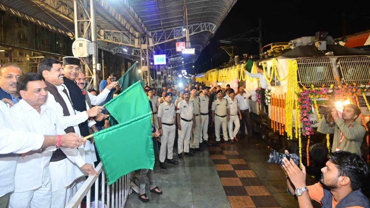
[[[17,128],[25,132],[33,132],[42,135],[63,135],[64,129],[59,124],[57,114],[47,106],[41,106],[41,112],[31,107],[26,101],[10,108],[10,114],[17,118]],[[18,160],[15,174],[15,192],[25,192],[40,188],[50,181],[49,163],[55,146],[46,148],[42,153],[26,155]],[[79,166],[85,164],[78,150],[61,147],[67,157]]]

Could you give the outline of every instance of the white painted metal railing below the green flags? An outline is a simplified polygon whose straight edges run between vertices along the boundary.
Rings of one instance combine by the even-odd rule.
[[[94,185],[95,182],[95,206],[91,208],[104,208],[104,204],[107,206],[107,208],[123,208],[125,207],[127,197],[130,194],[131,191],[131,177],[132,173],[129,173],[120,179],[118,179],[114,184],[108,185],[105,184],[105,173],[103,170],[103,165],[100,162],[97,167],[95,168],[95,171],[101,175],[101,181],[99,181],[99,177],[95,177],[94,175],[91,175],[86,179],[84,184],[74,197],[68,202],[68,204],[65,206],[65,208],[81,208],[81,201],[85,196],[86,197],[86,207],[90,208],[89,206],[91,204],[91,187]],[[101,188],[99,188],[99,185]],[[100,191],[100,193],[99,193]],[[99,206],[98,200],[101,201],[101,205]]]

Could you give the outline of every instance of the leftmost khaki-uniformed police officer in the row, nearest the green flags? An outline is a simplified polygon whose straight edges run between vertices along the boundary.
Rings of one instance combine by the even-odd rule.
[[[175,105],[171,103],[172,93],[165,94],[165,102],[159,105],[158,108],[158,124],[159,133],[161,137],[161,150],[159,151],[159,167],[165,169],[166,165],[164,160],[166,159],[167,151],[167,163],[168,164],[179,164],[178,161],[172,159],[172,150],[174,149],[175,141],[175,119],[176,111]]]

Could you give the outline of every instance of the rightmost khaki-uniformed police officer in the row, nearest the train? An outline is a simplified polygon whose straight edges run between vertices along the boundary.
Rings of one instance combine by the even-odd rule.
[[[229,139],[231,143],[234,143],[234,138],[236,134],[238,134],[240,128],[239,119],[242,119],[242,113],[239,110],[238,100],[235,99],[235,91],[233,89],[229,89],[229,98],[228,98],[229,106],[230,106],[230,120],[228,122],[228,129],[229,129]],[[238,115],[239,114],[239,115]],[[233,131],[233,124],[235,124],[235,129]]]

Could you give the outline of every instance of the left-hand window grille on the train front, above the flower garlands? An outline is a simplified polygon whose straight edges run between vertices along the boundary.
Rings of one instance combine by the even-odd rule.
[[[329,58],[297,60],[300,84],[305,86],[330,86],[337,81],[333,74],[333,62]]]

